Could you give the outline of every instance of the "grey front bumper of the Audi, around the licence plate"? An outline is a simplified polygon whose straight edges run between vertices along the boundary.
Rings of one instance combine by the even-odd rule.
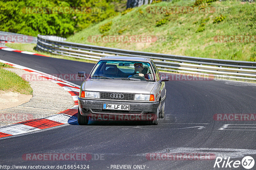
[[[130,105],[130,110],[103,110],[103,103]],[[152,120],[156,114],[159,102],[126,102],[78,98],[78,105],[82,116],[103,117],[103,115],[108,115],[107,117],[109,118],[109,115],[114,115],[114,120],[116,120],[116,115],[118,117],[119,115],[125,115],[130,118],[140,117],[140,120]],[[131,120],[134,119],[131,118]]]

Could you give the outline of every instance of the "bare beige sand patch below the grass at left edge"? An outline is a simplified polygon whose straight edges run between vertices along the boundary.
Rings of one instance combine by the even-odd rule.
[[[0,90],[0,110],[27,103],[33,96]]]

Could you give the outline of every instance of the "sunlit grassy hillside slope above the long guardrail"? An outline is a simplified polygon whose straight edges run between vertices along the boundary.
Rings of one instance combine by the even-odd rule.
[[[124,15],[119,14],[91,25],[70,36],[67,41],[146,52],[256,61],[255,43],[220,43],[213,39],[216,35],[256,35],[255,3],[227,0],[199,4],[199,6],[227,6],[227,13],[150,14],[147,12],[149,6],[193,6],[194,3],[195,1],[173,0],[143,5],[126,14],[123,13]],[[221,22],[214,22],[216,19]],[[92,43],[88,41],[91,35],[169,35],[171,41]]]

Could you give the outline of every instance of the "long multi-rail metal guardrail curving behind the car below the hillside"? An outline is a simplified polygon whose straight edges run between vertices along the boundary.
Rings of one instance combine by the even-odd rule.
[[[162,53],[148,53],[103,46],[66,42],[60,37],[37,35],[37,50],[53,54],[98,61],[103,56],[148,57],[159,70],[188,74],[208,73],[217,77],[256,80],[256,62],[220,60]]]

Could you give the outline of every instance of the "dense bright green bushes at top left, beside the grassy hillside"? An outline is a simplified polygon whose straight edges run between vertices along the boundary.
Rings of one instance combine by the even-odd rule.
[[[13,0],[0,1],[0,30],[30,36],[56,35],[68,37],[91,24],[118,14],[115,5],[119,0],[63,0],[34,1]],[[123,1],[122,1],[123,3]],[[115,5],[114,5],[115,4]],[[88,13],[26,13],[26,7],[90,7]],[[31,10],[32,11],[32,10]]]

